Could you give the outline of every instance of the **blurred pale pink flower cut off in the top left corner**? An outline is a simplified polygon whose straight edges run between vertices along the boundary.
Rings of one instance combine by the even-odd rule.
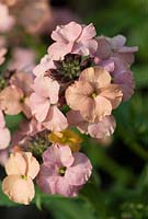
[[[10,31],[14,23],[14,18],[9,14],[8,7],[0,3],[0,32],[4,33]]]

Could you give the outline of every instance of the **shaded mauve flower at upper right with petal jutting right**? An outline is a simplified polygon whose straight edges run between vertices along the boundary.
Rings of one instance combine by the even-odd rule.
[[[121,57],[128,65],[134,61],[133,54],[138,50],[137,46],[125,46],[126,38],[123,35],[117,35],[112,38],[100,36],[98,37],[98,51],[96,56],[100,59],[106,59],[111,56]]]

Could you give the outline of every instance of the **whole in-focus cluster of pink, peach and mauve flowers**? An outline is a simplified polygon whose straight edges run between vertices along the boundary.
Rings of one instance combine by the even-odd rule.
[[[110,137],[116,127],[113,111],[135,88],[130,65],[137,47],[125,46],[124,36],[98,37],[93,24],[70,22],[57,26],[52,38],[34,69],[25,68],[29,56],[26,66],[14,61],[14,70],[0,78],[0,149],[11,146],[2,191],[22,204],[33,199],[35,177],[44,193],[78,195],[92,173],[80,152],[80,134]],[[4,54],[1,49],[0,64]],[[10,142],[4,115],[19,113],[24,119]]]

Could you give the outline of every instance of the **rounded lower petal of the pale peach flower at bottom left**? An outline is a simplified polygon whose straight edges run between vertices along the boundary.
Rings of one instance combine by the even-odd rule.
[[[24,205],[29,205],[35,195],[33,181],[21,175],[7,176],[2,182],[2,192],[14,203]]]

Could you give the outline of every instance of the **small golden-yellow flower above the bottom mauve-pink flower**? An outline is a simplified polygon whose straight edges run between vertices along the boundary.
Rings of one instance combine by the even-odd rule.
[[[82,142],[82,138],[70,129],[49,134],[49,140],[53,143],[69,146],[72,152],[79,151]]]

